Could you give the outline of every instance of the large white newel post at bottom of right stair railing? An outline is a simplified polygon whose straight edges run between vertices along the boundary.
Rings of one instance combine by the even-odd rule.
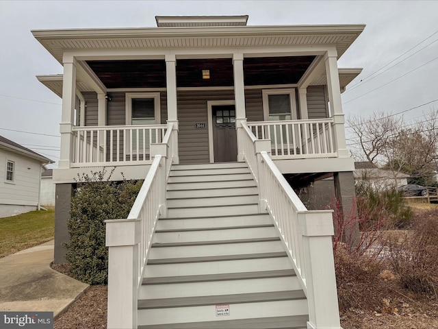
[[[298,212],[309,304],[307,328],[342,329],[339,321],[333,219],[327,210]]]

